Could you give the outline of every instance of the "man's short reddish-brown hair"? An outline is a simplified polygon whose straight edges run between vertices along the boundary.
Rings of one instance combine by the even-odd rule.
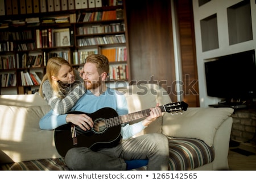
[[[96,64],[96,68],[99,74],[106,72],[109,73],[109,60],[104,55],[92,54],[86,57],[86,63]]]

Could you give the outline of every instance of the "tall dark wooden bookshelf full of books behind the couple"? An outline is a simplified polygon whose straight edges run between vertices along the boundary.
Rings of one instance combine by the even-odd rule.
[[[0,0],[0,94],[36,92],[54,56],[79,69],[86,56],[102,53],[110,61],[109,81],[129,80],[124,1],[12,2]]]

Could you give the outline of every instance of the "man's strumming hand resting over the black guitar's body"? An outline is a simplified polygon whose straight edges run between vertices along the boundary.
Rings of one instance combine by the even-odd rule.
[[[73,123],[85,131],[90,130],[93,127],[92,118],[86,114],[68,114],[66,117],[66,122]]]

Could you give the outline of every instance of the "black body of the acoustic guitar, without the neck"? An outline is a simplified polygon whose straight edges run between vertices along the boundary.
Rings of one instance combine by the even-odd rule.
[[[121,140],[122,136],[121,125],[105,128],[105,119],[117,117],[117,112],[109,107],[97,110],[92,114],[83,113],[81,111],[70,111],[68,114],[86,114],[93,119],[94,126],[89,131],[81,130],[80,127],[76,126],[77,144],[74,144],[72,137],[71,124],[59,126],[55,129],[54,138],[55,146],[61,156],[65,156],[67,151],[73,147],[88,147],[93,151],[97,151],[100,148],[114,147]],[[75,126],[74,126],[75,127]]]

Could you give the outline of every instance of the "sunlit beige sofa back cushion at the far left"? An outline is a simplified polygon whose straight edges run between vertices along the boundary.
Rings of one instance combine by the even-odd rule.
[[[39,120],[47,106],[0,105],[0,163],[59,158],[53,131],[41,130]]]

